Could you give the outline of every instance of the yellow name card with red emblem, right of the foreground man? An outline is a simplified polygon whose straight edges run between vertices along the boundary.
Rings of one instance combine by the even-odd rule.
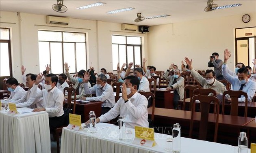
[[[135,139],[133,143],[147,147],[155,146],[154,128],[135,126]]]

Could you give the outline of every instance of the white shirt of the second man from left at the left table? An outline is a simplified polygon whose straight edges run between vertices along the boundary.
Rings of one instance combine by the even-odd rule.
[[[39,93],[41,90],[37,88],[37,93]],[[43,107],[43,98],[32,98],[31,91],[33,87],[28,89],[27,93],[19,100],[13,101],[12,103],[15,103],[17,107],[28,107],[28,108],[37,108],[37,107]]]

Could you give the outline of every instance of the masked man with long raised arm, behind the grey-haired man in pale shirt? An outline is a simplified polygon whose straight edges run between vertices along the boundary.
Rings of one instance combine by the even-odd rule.
[[[84,93],[84,88],[85,84],[83,82],[84,78],[84,73],[86,72],[85,70],[80,70],[78,72],[78,78],[74,78],[69,74],[69,66],[67,65],[67,62],[64,64],[65,68],[65,74],[67,75],[67,78],[69,81],[71,81],[74,84],[74,89],[76,89],[76,99],[81,99],[82,97],[91,97],[91,94],[83,94]],[[87,83],[88,87],[91,87],[90,83]],[[72,96],[74,99],[74,96]]]

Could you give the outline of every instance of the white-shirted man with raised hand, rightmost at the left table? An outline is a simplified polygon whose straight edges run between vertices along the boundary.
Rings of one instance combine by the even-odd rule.
[[[31,92],[33,97],[43,98],[43,108],[35,108],[33,112],[46,111],[49,115],[50,131],[53,131],[59,126],[64,125],[65,116],[63,110],[63,101],[65,99],[63,91],[60,91],[56,85],[58,77],[55,74],[47,74],[45,78],[45,89],[37,92],[37,86],[41,82],[43,74],[37,75],[35,84]]]

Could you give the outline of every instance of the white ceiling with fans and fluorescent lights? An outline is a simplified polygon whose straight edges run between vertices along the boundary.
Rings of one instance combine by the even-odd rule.
[[[77,7],[96,2],[104,2],[106,4],[83,10],[76,9]],[[241,3],[242,6],[223,8],[211,12],[204,11],[204,8],[207,6],[207,0],[64,0],[64,5],[68,8],[65,13],[58,13],[52,9],[52,5],[56,3],[56,0],[0,0],[0,9],[1,11],[56,15],[77,19],[129,23],[144,26],[256,13],[256,0],[214,0],[214,3],[219,6],[236,3]],[[106,13],[108,11],[127,7],[135,9],[116,14]],[[165,14],[171,16],[145,19],[144,21],[136,23],[134,22],[134,19],[137,18],[137,13],[142,13],[142,16],[144,17]]]

